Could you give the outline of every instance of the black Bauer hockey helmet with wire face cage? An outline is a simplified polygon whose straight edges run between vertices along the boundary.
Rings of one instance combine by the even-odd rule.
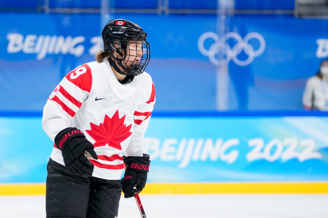
[[[139,25],[124,19],[112,20],[105,25],[101,35],[104,40],[104,51],[109,52],[112,58],[117,61],[117,64],[126,71],[122,72],[116,63],[109,59],[109,63],[117,72],[123,75],[134,76],[143,73],[150,60],[150,47],[146,41],[147,33]],[[140,43],[142,56],[132,55],[133,52],[130,52],[131,48],[129,45]],[[140,53],[140,46],[138,47]],[[134,48],[136,49],[136,46]],[[113,51],[116,51],[121,57],[114,55]],[[128,59],[131,63],[131,57],[133,64],[129,66]]]

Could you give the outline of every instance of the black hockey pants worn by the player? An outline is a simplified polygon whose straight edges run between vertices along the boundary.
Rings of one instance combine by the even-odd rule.
[[[115,218],[122,193],[119,180],[81,177],[49,160],[46,183],[48,218]]]

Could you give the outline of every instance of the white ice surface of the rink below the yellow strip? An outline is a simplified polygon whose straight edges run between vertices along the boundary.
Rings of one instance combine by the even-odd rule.
[[[147,218],[328,218],[327,194],[142,195]],[[45,196],[1,196],[0,218],[45,218]],[[119,218],[140,218],[121,198]]]

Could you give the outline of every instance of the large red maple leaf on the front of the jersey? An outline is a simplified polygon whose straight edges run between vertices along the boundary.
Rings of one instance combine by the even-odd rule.
[[[130,132],[132,124],[126,126],[124,120],[125,115],[119,118],[118,111],[116,111],[112,118],[105,115],[104,122],[99,125],[90,123],[91,130],[86,130],[86,132],[96,141],[93,146],[99,147],[108,144],[108,146],[121,150],[121,142],[132,134]]]

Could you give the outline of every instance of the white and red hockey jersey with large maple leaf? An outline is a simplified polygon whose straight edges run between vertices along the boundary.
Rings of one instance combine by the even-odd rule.
[[[53,90],[43,109],[42,127],[52,141],[67,127],[81,130],[98,156],[90,159],[92,176],[116,180],[123,172],[123,152],[142,156],[154,104],[154,83],[148,73],[121,84],[107,61],[90,62],[72,70]],[[50,157],[64,165],[55,145]]]

